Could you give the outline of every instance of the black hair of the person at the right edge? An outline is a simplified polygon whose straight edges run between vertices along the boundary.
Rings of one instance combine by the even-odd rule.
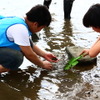
[[[100,27],[100,4],[92,5],[83,17],[85,27]]]

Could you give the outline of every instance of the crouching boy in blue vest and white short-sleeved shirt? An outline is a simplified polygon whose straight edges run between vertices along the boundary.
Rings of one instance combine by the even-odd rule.
[[[47,7],[36,5],[25,18],[0,16],[0,73],[17,70],[25,56],[39,67],[52,69],[55,56],[34,45],[30,36],[49,26],[51,15]],[[42,61],[38,56],[45,58]],[[55,57],[56,58],[56,57]]]

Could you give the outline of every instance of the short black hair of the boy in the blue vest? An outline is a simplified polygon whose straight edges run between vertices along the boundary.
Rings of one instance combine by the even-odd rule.
[[[26,13],[27,19],[31,22],[37,22],[38,26],[49,26],[51,23],[51,14],[46,6],[36,5]]]

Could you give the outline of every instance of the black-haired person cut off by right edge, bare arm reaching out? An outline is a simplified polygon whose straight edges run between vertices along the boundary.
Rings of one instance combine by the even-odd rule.
[[[100,33],[100,4],[92,5],[83,17],[83,25]],[[84,49],[81,54],[96,57],[100,53],[100,37],[90,49]]]

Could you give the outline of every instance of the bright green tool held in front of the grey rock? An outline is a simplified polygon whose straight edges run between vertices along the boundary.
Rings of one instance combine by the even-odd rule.
[[[80,55],[78,57],[74,57],[74,58],[70,59],[68,61],[68,63],[65,65],[64,70],[69,70],[72,67],[76,66],[79,63],[78,60],[81,59],[82,57],[83,57],[83,55]]]

